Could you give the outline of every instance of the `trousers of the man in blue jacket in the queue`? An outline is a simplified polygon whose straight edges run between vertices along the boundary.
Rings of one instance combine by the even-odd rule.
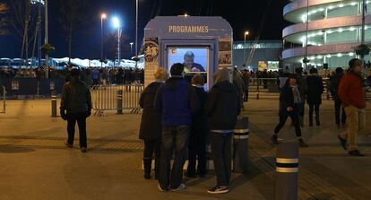
[[[170,126],[162,129],[159,177],[162,189],[168,189],[168,187],[175,189],[182,183],[189,133],[189,126]],[[170,177],[170,160],[173,152],[175,152],[175,158]]]

